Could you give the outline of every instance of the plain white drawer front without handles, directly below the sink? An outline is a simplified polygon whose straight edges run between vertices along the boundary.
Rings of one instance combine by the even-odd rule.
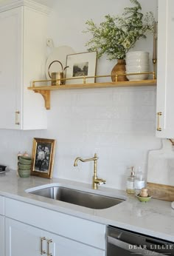
[[[5,198],[5,215],[66,238],[105,249],[105,225]]]

